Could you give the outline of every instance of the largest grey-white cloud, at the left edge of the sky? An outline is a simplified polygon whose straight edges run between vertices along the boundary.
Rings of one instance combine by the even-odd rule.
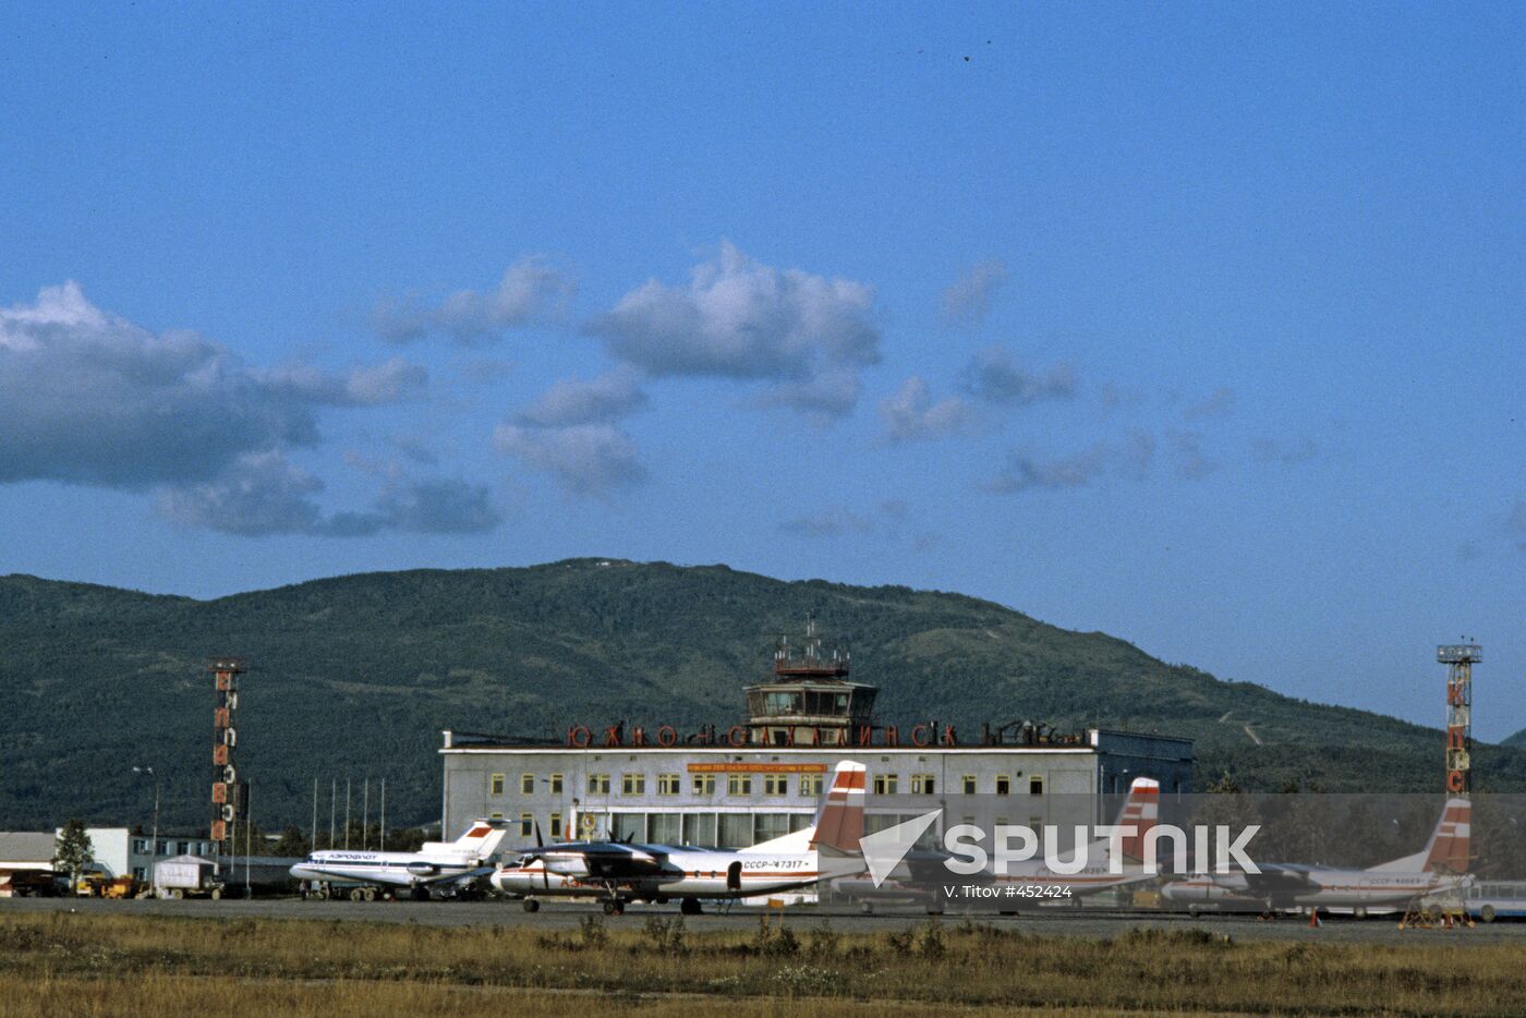
[[[317,411],[423,392],[392,360],[348,374],[258,369],[194,333],[150,333],[75,282],[0,310],[0,482],[209,481],[253,453],[311,447]]]

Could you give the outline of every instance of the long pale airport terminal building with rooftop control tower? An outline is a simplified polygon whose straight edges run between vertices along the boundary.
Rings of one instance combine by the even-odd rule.
[[[557,743],[446,731],[443,836],[491,817],[516,824],[510,846],[533,844],[539,826],[546,841],[745,849],[809,824],[839,760],[868,768],[868,830],[937,807],[945,824],[977,812],[1030,827],[1097,823],[1137,777],[1163,795],[1190,791],[1186,739],[1021,723],[964,742],[951,725],[874,723],[877,690],[848,681],[847,656],[823,655],[813,636],[800,655],[781,646],[772,679],[745,691],[748,720],[729,730],[574,725]],[[876,812],[876,800],[894,809]]]

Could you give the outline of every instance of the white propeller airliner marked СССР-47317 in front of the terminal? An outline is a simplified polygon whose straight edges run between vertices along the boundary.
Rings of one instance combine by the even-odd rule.
[[[499,867],[491,884],[522,897],[525,911],[543,897],[601,897],[618,916],[632,900],[679,900],[697,914],[702,897],[751,897],[809,887],[864,868],[864,765],[844,760],[832,775],[815,821],[801,830],[739,852],[629,841],[537,846]]]

